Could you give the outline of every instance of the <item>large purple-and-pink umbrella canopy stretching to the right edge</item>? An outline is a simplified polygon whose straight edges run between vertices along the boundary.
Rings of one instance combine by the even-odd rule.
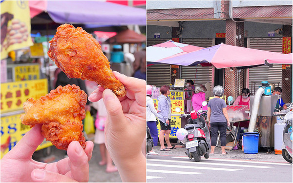
[[[292,64],[292,54],[281,54],[251,48],[218,44],[178,57],[169,58],[163,61],[151,63],[167,63],[183,66],[194,66],[198,63],[209,62],[216,68],[242,67],[248,68],[265,64],[265,60],[278,63]]]

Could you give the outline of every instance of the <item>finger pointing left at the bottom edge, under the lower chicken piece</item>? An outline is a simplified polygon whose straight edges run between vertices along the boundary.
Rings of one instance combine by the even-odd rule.
[[[43,182],[43,183],[72,183],[72,182],[77,182],[76,180],[70,179],[69,177],[43,170],[43,169],[34,169],[31,173],[31,178],[34,182]]]

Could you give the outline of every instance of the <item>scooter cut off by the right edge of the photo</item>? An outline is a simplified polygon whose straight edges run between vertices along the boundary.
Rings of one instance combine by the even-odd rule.
[[[287,105],[287,104],[286,104]],[[285,123],[283,130],[283,144],[282,144],[282,156],[283,158],[292,163],[292,103],[287,106],[286,110],[281,110],[279,113],[274,113],[274,116],[279,116]],[[285,117],[283,117],[285,115]]]

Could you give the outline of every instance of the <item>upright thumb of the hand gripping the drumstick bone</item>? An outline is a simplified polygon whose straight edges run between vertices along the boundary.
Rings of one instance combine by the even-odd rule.
[[[114,126],[116,126],[116,124],[118,124],[119,126],[124,125],[122,123],[125,122],[123,120],[125,116],[123,114],[121,103],[116,95],[111,90],[105,89],[105,91],[103,92],[103,101],[108,113],[110,125],[113,123],[115,123]]]

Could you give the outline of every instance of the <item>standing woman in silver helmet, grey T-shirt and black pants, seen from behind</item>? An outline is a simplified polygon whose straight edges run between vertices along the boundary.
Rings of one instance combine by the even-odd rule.
[[[224,95],[223,86],[215,86],[213,88],[213,99],[208,103],[208,120],[209,127],[211,129],[211,151],[210,154],[214,154],[214,150],[217,144],[218,131],[220,130],[221,149],[222,154],[228,154],[225,152],[226,146],[226,131],[227,126],[230,126],[230,121],[227,113],[227,105],[223,99],[220,99]]]

